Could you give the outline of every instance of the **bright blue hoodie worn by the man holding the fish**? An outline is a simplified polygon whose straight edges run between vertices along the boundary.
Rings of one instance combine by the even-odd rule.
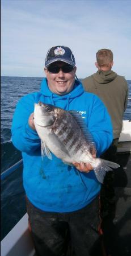
[[[52,154],[52,160],[41,159],[40,138],[28,125],[34,104],[42,101],[65,110],[82,114],[96,143],[97,156],[112,142],[111,119],[104,104],[95,94],[84,92],[81,82],[74,89],[59,96],[52,93],[47,79],[41,83],[40,92],[20,99],[12,122],[12,143],[23,156],[23,184],[28,199],[35,207],[48,212],[72,212],[89,204],[100,191],[94,171],[88,174],[64,164]]]

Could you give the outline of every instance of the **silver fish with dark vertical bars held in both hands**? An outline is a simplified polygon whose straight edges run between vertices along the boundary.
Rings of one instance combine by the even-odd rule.
[[[96,179],[103,183],[106,172],[119,164],[94,158],[94,139],[80,113],[67,111],[39,101],[34,108],[34,125],[41,139],[41,154],[52,159],[51,152],[65,164],[90,163]]]

